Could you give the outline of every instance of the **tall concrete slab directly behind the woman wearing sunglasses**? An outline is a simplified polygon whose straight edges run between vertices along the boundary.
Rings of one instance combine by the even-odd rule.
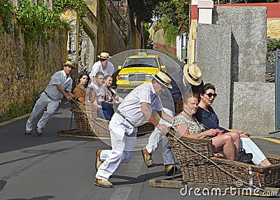
[[[220,116],[220,124],[229,127],[231,90],[231,29],[221,24],[198,24],[197,66],[205,83],[216,87],[218,96],[213,108]],[[221,109],[226,108],[226,109]]]

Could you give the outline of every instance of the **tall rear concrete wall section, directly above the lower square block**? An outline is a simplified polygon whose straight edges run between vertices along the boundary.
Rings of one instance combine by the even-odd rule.
[[[213,23],[232,28],[237,48],[236,59],[242,82],[265,82],[267,55],[267,8],[266,7],[214,7]]]

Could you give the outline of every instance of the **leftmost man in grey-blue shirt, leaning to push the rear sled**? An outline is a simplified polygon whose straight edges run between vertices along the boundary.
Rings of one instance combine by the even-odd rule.
[[[34,125],[37,122],[39,115],[43,113],[43,110],[47,110],[43,113],[43,116],[38,120],[36,126],[36,134],[42,134],[42,129],[45,127],[45,124],[52,118],[61,103],[62,97],[65,97],[68,101],[71,101],[74,95],[71,93],[73,80],[70,76],[72,69],[75,69],[73,62],[67,61],[63,64],[63,70],[57,71],[48,86],[45,88],[45,91],[42,92],[40,98],[36,101],[35,106],[27,120],[25,127],[25,134],[31,134]]]

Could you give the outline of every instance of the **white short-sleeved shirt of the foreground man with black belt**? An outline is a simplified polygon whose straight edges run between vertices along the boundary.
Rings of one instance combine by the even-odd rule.
[[[144,83],[136,87],[118,106],[120,113],[124,115],[135,127],[139,127],[148,119],[141,112],[141,103],[148,103],[151,112],[162,110],[162,103],[158,94],[155,94],[152,83]]]

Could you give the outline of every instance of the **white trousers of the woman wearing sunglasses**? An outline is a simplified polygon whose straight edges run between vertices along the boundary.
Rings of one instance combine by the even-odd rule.
[[[240,147],[244,148],[246,152],[251,152],[253,154],[252,162],[255,165],[259,165],[264,159],[265,155],[262,153],[260,148],[251,140],[251,138],[240,138]]]

